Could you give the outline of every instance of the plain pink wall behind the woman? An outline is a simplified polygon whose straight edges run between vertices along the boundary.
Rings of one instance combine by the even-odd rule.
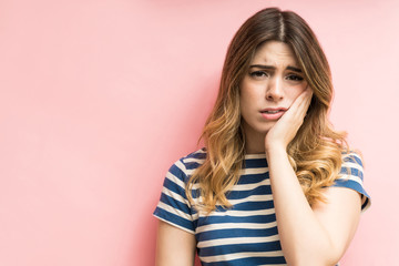
[[[164,174],[197,149],[234,32],[272,6],[315,30],[331,121],[364,152],[372,207],[342,265],[395,265],[396,0],[0,0],[0,265],[153,265]]]

